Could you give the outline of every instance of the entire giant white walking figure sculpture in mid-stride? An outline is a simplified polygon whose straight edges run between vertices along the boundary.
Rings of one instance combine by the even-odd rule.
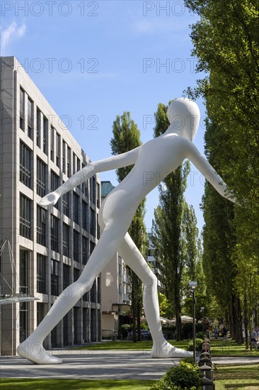
[[[197,104],[189,99],[176,99],[168,107],[167,115],[171,125],[158,138],[149,140],[144,145],[122,155],[90,162],[56,191],[47,194],[40,201],[41,206],[54,205],[60,196],[71,191],[93,174],[134,165],[127,177],[113,189],[100,207],[98,221],[103,233],[81,276],[63,291],[38,328],[18,346],[18,355],[38,364],[62,363],[61,359],[45,351],[42,342],[81,299],[81,296],[91,289],[97,275],[117,251],[144,283],[144,313],[153,339],[151,357],[192,355],[192,352],[173,347],[163,337],[156,277],[129,237],[127,230],[146,194],[149,194],[167,174],[173,172],[185,158],[205,174],[206,179],[219,194],[231,201],[234,199],[226,194],[226,184],[192,143],[200,122],[200,110]]]

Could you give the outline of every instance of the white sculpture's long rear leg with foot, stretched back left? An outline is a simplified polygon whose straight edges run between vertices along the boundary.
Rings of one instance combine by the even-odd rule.
[[[38,325],[38,328],[36,328],[34,332],[18,346],[18,355],[26,357],[31,362],[37,364],[62,363],[61,359],[49,355],[42,346],[42,342],[54,326],[56,326],[75,303],[79,301],[81,296],[91,289],[94,280],[98,274],[100,274],[103,267],[105,267],[105,264],[113,257],[118,245],[124,238],[124,228],[125,226],[120,225],[117,228],[110,227],[103,231],[98,245],[96,245],[93,250],[79,279],[68,286],[67,289],[64,289],[45,318],[43,318]]]

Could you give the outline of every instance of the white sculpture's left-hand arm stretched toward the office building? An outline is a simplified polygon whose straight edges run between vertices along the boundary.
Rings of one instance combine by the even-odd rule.
[[[105,172],[111,169],[127,167],[127,165],[134,165],[137,161],[140,149],[141,146],[129,150],[129,152],[122,153],[121,155],[115,155],[103,160],[90,162],[86,165],[86,167],[69,177],[67,182],[64,182],[64,184],[59,186],[58,189],[44,196],[44,198],[40,200],[40,205],[51,206],[56,204],[60,196],[66,194],[68,191],[71,191],[71,189],[74,189],[79,184],[86,182],[86,180],[90,179],[98,172]]]

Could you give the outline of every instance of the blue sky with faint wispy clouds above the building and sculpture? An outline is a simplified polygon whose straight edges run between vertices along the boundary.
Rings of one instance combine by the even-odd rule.
[[[110,155],[116,115],[130,111],[142,135],[153,136],[159,102],[194,87],[190,24],[183,1],[1,1],[1,55],[14,55],[91,160]],[[205,107],[198,100],[202,118]],[[201,122],[195,145],[203,153]],[[204,179],[192,167],[186,199],[203,225]],[[117,183],[115,172],[100,174]],[[158,191],[146,202],[151,228]]]

